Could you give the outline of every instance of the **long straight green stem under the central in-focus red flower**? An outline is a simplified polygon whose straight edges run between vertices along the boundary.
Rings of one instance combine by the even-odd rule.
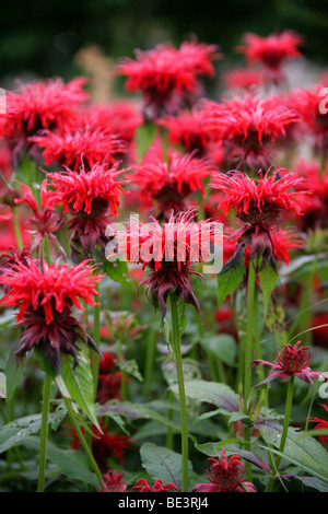
[[[171,294],[171,313],[172,313],[172,342],[175,354],[175,365],[179,392],[180,405],[180,420],[181,420],[181,468],[183,468],[183,483],[181,492],[188,492],[188,419],[187,419],[187,404],[185,394],[184,370],[180,349],[180,335],[179,335],[179,317],[177,308],[177,296],[175,293]]]

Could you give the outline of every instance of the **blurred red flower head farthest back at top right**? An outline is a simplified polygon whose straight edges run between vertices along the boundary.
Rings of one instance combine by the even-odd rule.
[[[298,47],[303,38],[292,31],[283,31],[281,34],[271,34],[260,37],[256,34],[246,34],[244,45],[238,50],[246,55],[248,65],[259,62],[268,71],[269,79],[279,82],[283,79],[282,66],[286,59],[302,57]]]

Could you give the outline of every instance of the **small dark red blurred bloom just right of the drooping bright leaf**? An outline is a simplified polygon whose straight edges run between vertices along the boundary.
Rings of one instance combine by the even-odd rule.
[[[121,372],[110,352],[104,352],[99,360],[97,401],[103,405],[109,399],[120,398]]]

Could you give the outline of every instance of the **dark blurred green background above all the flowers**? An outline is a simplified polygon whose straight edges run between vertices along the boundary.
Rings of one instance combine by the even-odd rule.
[[[304,36],[308,59],[328,63],[327,0],[2,1],[1,81],[28,74],[69,79],[77,73],[74,56],[92,44],[116,60],[132,56],[136,47],[178,45],[191,34],[220,44],[227,58],[243,62],[234,47],[245,32],[268,35],[284,28]]]

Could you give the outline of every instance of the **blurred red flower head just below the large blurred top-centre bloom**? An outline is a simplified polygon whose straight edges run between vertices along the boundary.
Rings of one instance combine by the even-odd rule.
[[[159,125],[168,130],[168,140],[172,144],[181,144],[186,152],[197,151],[196,155],[202,157],[212,140],[211,130],[203,124],[203,112],[200,105],[191,110],[184,109],[176,116],[159,120]]]

